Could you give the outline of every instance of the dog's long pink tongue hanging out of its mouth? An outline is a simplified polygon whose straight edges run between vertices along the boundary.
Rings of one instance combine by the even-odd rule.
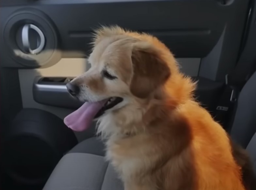
[[[90,127],[95,115],[104,106],[107,100],[99,102],[86,102],[78,110],[64,119],[64,123],[74,131],[84,131]]]

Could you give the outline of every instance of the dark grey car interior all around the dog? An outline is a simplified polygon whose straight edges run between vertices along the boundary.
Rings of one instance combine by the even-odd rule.
[[[101,25],[164,42],[256,173],[255,8],[255,0],[1,0],[0,188],[123,189],[96,124],[73,132],[63,123],[82,105],[66,84],[88,70]]]

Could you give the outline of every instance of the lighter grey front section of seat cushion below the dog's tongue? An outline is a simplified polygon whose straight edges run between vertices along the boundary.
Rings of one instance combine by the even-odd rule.
[[[68,153],[59,161],[43,190],[123,190],[103,156]]]

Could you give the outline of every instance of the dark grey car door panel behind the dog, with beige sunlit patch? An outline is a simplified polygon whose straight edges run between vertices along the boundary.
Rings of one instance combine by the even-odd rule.
[[[40,76],[75,77],[85,72],[85,57],[91,49],[89,43],[92,30],[100,25],[120,25],[155,35],[178,58],[185,74],[203,81],[199,82],[199,96],[203,96],[205,91],[209,92],[206,94],[218,92],[225,74],[236,63],[249,1],[223,2],[2,0],[0,36],[3,43],[0,45],[0,72],[8,71],[12,73],[12,79],[15,79],[9,82],[15,88],[10,88],[6,83],[2,84],[2,97],[15,99],[19,109],[39,108],[64,118],[71,109],[54,106],[49,102],[43,105],[34,100],[34,80]],[[38,26],[46,38],[45,49],[33,56],[19,50],[20,46],[17,45],[17,40],[21,37],[17,31],[29,23]],[[205,82],[210,87],[206,88]],[[16,95],[19,97],[15,97]],[[201,99],[205,104],[210,104],[213,98]],[[14,111],[11,108],[12,101],[2,100],[1,104],[6,115],[9,115],[8,118],[13,118],[19,110]]]

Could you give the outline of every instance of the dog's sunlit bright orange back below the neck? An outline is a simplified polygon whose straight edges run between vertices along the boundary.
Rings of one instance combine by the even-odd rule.
[[[206,110],[193,101],[181,106],[179,113],[187,121],[191,133],[192,140],[188,147],[191,151],[191,167],[195,170],[194,176],[183,176],[184,184],[189,178],[194,178],[195,188],[191,189],[244,190],[246,185],[242,182],[240,167],[243,163],[234,159],[231,151],[232,145],[225,130]],[[241,150],[234,148],[237,158],[243,160]],[[238,153],[240,153],[239,156]],[[187,158],[183,156],[180,159],[186,160]],[[173,164],[175,163],[170,159],[170,168]],[[244,163],[243,167],[245,166]],[[171,187],[171,183],[169,185]]]

